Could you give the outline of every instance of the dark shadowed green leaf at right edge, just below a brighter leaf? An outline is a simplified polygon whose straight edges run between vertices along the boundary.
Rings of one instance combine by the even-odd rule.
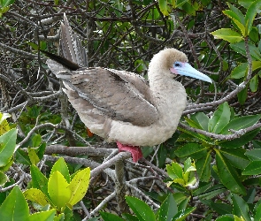
[[[240,138],[236,138],[232,141],[221,141],[219,142],[219,146],[225,149],[237,149],[252,141],[254,137],[256,137],[257,133],[259,133],[260,128],[256,130],[250,131],[249,133],[243,134]]]

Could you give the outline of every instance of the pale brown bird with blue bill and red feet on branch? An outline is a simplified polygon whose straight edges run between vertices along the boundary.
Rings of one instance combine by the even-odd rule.
[[[140,147],[161,144],[177,129],[187,94],[175,77],[212,83],[210,77],[188,64],[183,52],[173,48],[152,57],[148,80],[134,72],[84,67],[42,52],[50,57],[46,61],[50,71],[63,81],[63,91],[85,126],[106,141],[116,142],[119,152],[130,152],[134,162],[142,157]]]

